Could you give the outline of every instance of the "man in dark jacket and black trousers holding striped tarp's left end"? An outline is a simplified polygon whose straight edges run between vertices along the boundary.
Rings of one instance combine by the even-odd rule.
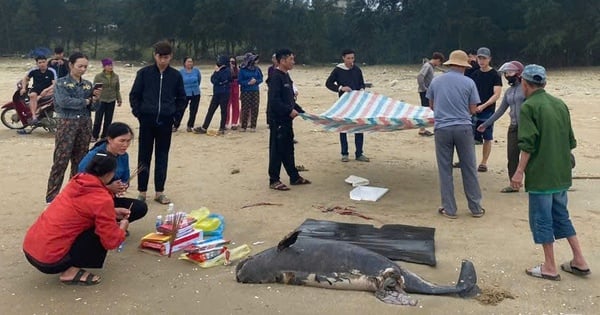
[[[279,178],[281,164],[290,176],[291,185],[310,184],[300,176],[294,160],[294,129],[292,121],[298,113],[304,113],[294,99],[294,83],[288,73],[294,67],[294,53],[281,49],[275,53],[279,67],[269,76],[269,187],[289,190]]]

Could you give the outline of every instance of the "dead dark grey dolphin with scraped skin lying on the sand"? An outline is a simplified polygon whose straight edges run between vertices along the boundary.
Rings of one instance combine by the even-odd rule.
[[[480,290],[473,263],[463,260],[456,285],[437,285],[388,258],[346,242],[298,238],[296,231],[277,247],[248,257],[236,266],[242,283],[284,283],[375,292],[385,303],[416,305],[408,293],[473,297]]]

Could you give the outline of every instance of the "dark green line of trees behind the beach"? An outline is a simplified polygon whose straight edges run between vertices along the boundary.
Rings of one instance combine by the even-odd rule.
[[[329,63],[353,48],[361,62],[401,64],[486,46],[497,60],[600,64],[589,0],[3,0],[0,23],[2,55],[60,45],[97,57],[113,43],[114,57],[138,59],[168,39],[177,57],[201,59],[289,47]]]

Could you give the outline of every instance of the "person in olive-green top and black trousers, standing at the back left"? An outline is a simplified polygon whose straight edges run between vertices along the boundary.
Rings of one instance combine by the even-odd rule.
[[[92,142],[106,137],[106,129],[112,123],[115,112],[115,103],[117,106],[121,106],[123,103],[119,76],[113,71],[112,59],[102,59],[102,72],[94,77],[94,85],[96,84],[102,84],[102,92],[100,93],[100,105],[94,115]],[[102,120],[104,120],[104,123],[102,123]],[[101,126],[102,132],[100,132]]]

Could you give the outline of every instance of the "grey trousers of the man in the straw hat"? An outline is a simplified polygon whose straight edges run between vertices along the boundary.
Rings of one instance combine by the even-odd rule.
[[[481,212],[481,189],[477,179],[475,143],[473,127],[458,125],[435,129],[435,157],[440,177],[440,193],[442,207],[446,213],[456,214],[454,198],[454,180],[452,177],[452,160],[454,148],[458,153],[463,187],[471,213]]]

